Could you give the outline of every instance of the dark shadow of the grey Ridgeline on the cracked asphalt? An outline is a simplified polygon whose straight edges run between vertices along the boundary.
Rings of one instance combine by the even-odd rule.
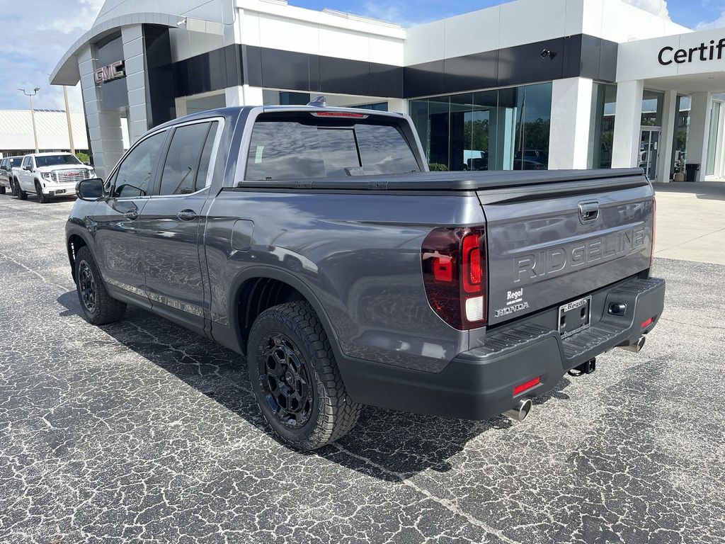
[[[57,301],[65,308],[60,316],[80,318],[75,291],[62,294]],[[102,330],[128,350],[249,421],[260,432],[271,434],[249,388],[247,366],[241,355],[133,307],[128,308],[123,321]],[[563,390],[569,383],[562,379],[534,403],[546,403],[552,397],[568,398]],[[346,437],[326,448],[297,455],[320,456],[368,476],[402,481],[427,469],[448,471],[452,469],[450,459],[469,442],[489,440],[490,434],[509,432],[516,425],[520,424],[505,416],[463,421],[365,406],[357,426]]]

